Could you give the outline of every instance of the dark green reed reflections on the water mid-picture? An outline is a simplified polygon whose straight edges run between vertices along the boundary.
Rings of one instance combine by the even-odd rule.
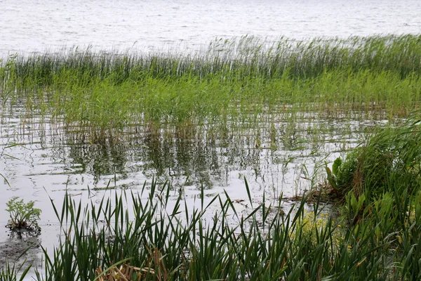
[[[139,172],[146,178],[156,176],[162,181],[177,184],[185,181],[187,185],[211,188],[214,183],[227,185],[227,171],[260,166],[260,150],[241,141],[241,136],[230,140],[205,139],[168,136],[168,132],[149,129],[135,131],[125,136],[130,141],[100,144],[72,141],[62,145],[67,146],[69,164],[73,169],[78,167],[74,172],[92,174],[94,184],[98,184],[101,176],[117,174],[127,178]]]

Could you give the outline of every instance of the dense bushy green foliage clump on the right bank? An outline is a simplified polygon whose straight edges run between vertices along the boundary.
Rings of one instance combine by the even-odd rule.
[[[411,117],[401,126],[377,129],[345,159],[336,159],[332,171],[326,166],[325,193],[343,203],[348,226],[373,226],[373,241],[401,244],[405,233],[413,243],[420,237],[420,166],[421,120]]]

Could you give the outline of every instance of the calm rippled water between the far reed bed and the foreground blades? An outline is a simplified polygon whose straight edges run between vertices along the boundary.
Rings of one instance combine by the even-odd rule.
[[[374,124],[302,114],[295,120],[279,117],[269,129],[263,120],[274,116],[265,116],[253,126],[231,126],[215,136],[206,127],[192,136],[177,136],[177,131],[151,132],[135,126],[115,143],[91,143],[48,116],[22,116],[25,110],[17,106],[4,112],[1,122],[0,170],[10,186],[0,183],[0,206],[5,207],[13,196],[35,200],[43,211],[39,239],[49,249],[58,243],[60,233],[51,200],[60,209],[65,192],[76,201],[99,202],[121,190],[140,192],[145,182],[155,178],[171,183],[174,198],[181,192],[193,209],[202,188],[205,204],[224,191],[232,200],[247,202],[246,178],[255,204],[262,203],[264,194],[267,203],[276,202],[280,196],[293,197],[308,188],[315,165],[323,167],[354,147]],[[18,145],[7,147],[13,143]],[[284,202],[289,204],[288,199]],[[247,209],[246,203],[236,205],[238,211]],[[210,216],[217,211],[210,210]],[[1,226],[7,218],[1,208]],[[4,228],[0,242],[15,245],[18,238],[8,235]],[[29,254],[25,257],[36,258],[36,251]]]

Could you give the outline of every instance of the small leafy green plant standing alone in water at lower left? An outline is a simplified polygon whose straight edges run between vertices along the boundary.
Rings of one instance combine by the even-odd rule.
[[[34,201],[29,201],[26,204],[23,199],[13,197],[6,203],[9,213],[8,228],[11,230],[18,230],[25,228],[34,233],[40,233],[41,228],[38,225],[41,209],[34,208]]]

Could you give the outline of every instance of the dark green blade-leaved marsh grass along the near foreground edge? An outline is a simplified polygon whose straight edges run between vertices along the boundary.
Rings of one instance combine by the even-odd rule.
[[[355,224],[326,214],[318,201],[309,206],[302,200],[286,214],[281,202],[250,204],[238,212],[227,193],[206,204],[202,192],[192,210],[172,192],[169,185],[152,182],[138,194],[115,193],[99,204],[85,205],[68,195],[62,209],[53,203],[62,235],[53,250],[44,249],[36,280],[103,280],[124,268],[133,269],[131,280],[420,277],[421,217],[413,211],[413,204],[420,206],[420,192],[383,196],[373,216]],[[399,209],[387,207],[402,198],[407,200],[399,200]],[[408,219],[396,228],[399,216]]]

